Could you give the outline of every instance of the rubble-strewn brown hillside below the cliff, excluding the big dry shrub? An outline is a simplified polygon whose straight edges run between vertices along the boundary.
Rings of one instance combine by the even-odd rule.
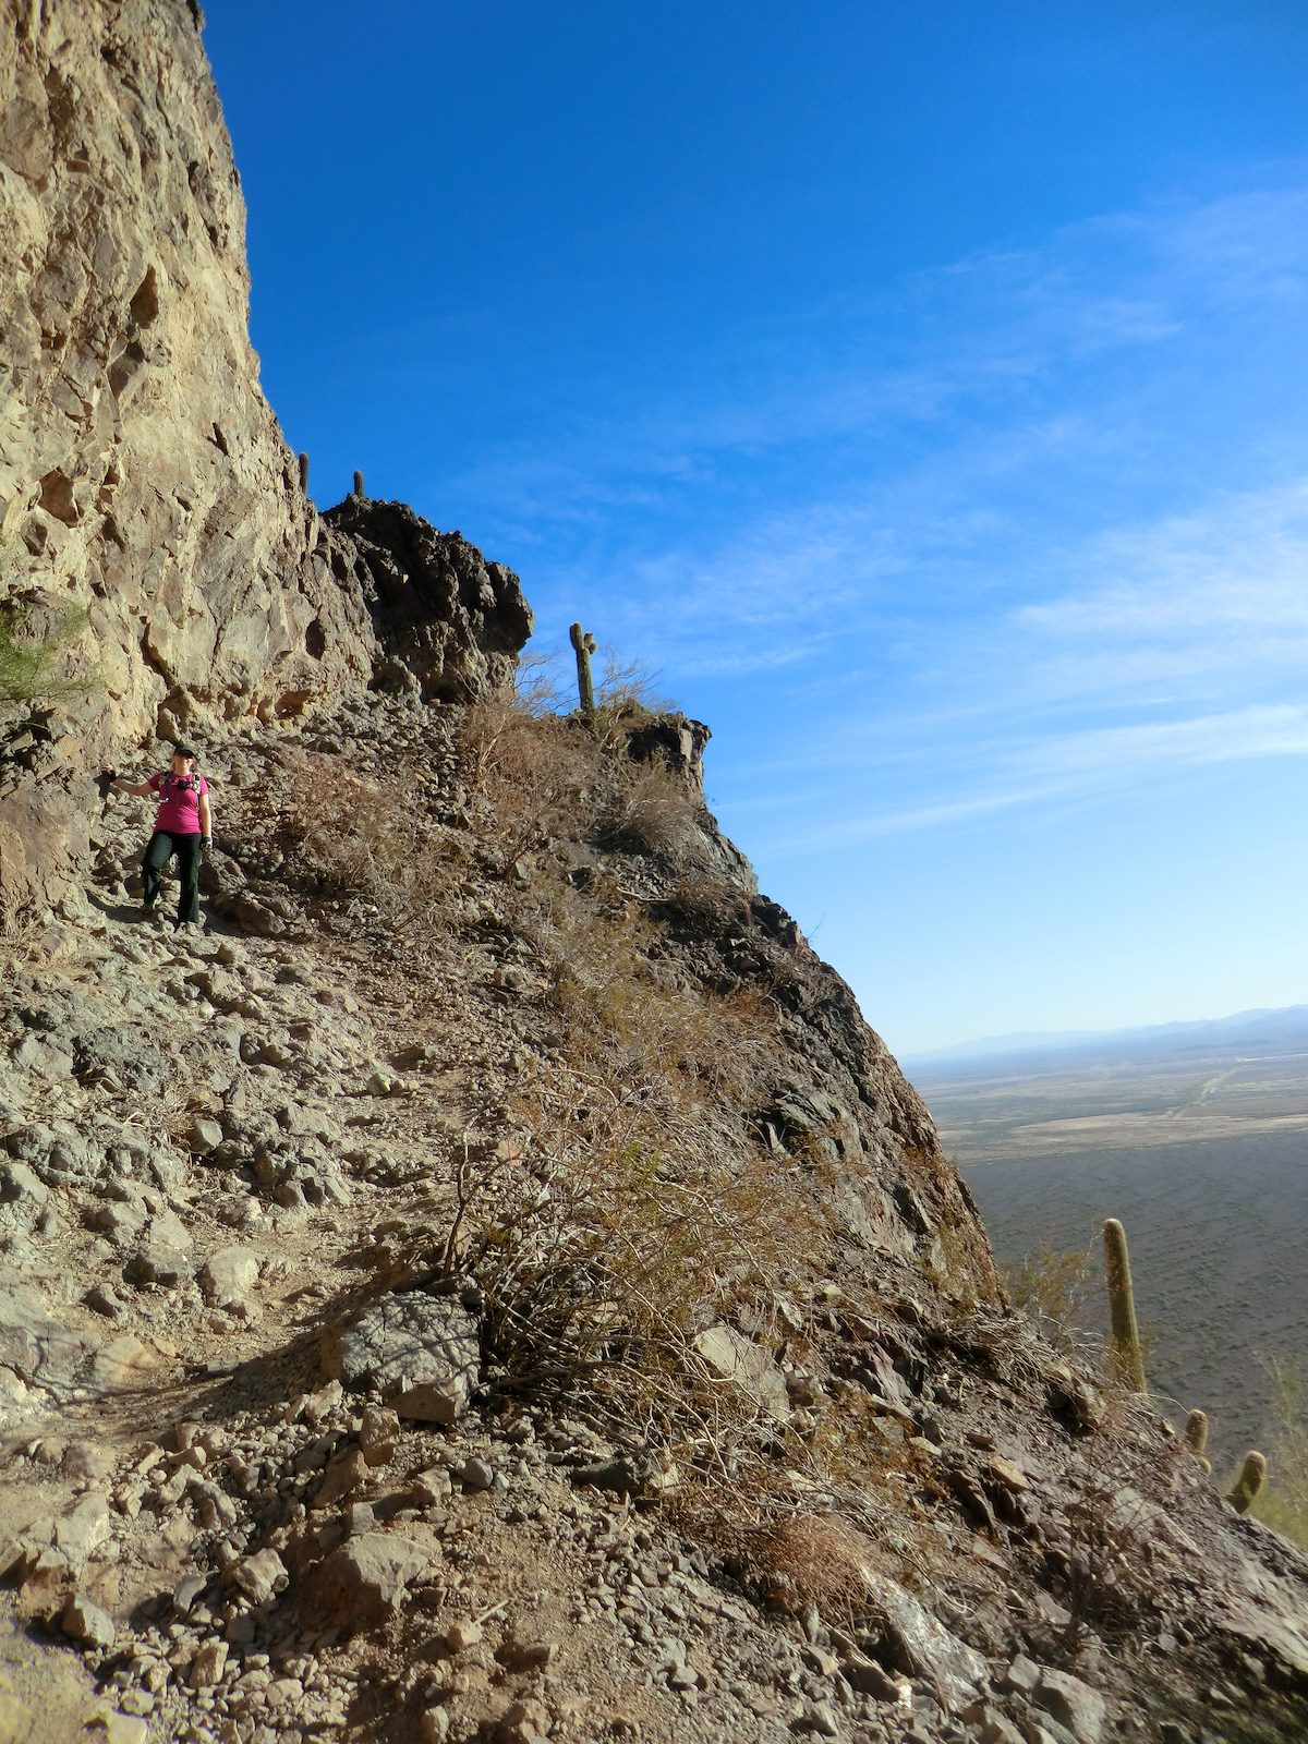
[[[678,841],[614,846],[603,769],[645,766],[586,738],[589,806],[520,849],[487,739],[516,794],[506,732],[541,731],[582,739],[415,694],[253,726],[213,757],[209,931],[136,919],[112,800],[89,896],[10,942],[7,1603],[45,1685],[84,1667],[49,1735],[1296,1735],[1303,1559],[1005,1308],[924,1109],[692,790]],[[333,776],[363,827],[364,794],[420,806],[422,937],[302,834]],[[562,900],[609,942],[617,905],[657,916],[649,1001],[766,987],[748,1100],[699,1076],[698,1118],[820,1221],[766,1303],[696,1303],[739,1406],[717,1453],[694,1414],[532,1385],[485,1254],[436,1263],[469,1160],[521,1216],[532,1104],[574,1071]]]

